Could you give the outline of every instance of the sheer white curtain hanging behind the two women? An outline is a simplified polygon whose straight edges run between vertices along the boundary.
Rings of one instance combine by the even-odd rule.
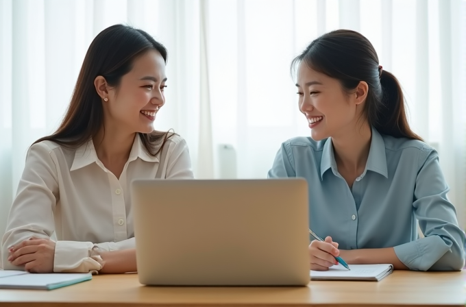
[[[0,0],[0,235],[27,147],[58,126],[88,45],[114,23],[169,50],[156,129],[186,138],[200,178],[266,177],[280,143],[309,134],[291,60],[332,29],[361,32],[439,150],[465,228],[465,0]]]

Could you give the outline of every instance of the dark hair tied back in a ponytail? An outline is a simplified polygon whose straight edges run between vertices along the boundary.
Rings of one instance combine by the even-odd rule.
[[[379,69],[376,50],[362,34],[339,29],[313,40],[291,64],[338,79],[349,92],[364,81],[369,86],[363,114],[381,134],[422,140],[408,125],[402,88],[394,75]],[[380,74],[381,71],[381,74]]]

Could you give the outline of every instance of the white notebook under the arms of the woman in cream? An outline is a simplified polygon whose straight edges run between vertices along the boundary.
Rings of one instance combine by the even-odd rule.
[[[47,273],[1,271],[0,288],[52,290],[92,279],[91,273]]]

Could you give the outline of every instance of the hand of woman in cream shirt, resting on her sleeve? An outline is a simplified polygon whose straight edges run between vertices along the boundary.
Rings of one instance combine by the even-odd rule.
[[[55,242],[45,238],[29,238],[10,247],[8,261],[12,265],[24,265],[25,271],[31,273],[53,273]]]

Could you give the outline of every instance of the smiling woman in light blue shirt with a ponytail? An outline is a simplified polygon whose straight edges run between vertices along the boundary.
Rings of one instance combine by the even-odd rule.
[[[293,60],[310,138],[287,140],[269,177],[304,177],[310,269],[391,263],[395,269],[461,270],[465,234],[447,199],[437,151],[408,125],[402,89],[363,35],[337,30]],[[417,221],[424,234],[419,238]]]

